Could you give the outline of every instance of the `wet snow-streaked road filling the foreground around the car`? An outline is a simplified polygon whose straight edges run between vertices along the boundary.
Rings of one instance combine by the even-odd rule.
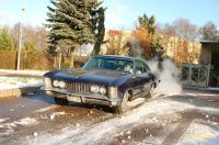
[[[0,99],[0,144],[217,144],[218,109],[219,92],[199,90],[138,99],[122,115],[102,105],[58,107],[44,94],[12,97]]]

